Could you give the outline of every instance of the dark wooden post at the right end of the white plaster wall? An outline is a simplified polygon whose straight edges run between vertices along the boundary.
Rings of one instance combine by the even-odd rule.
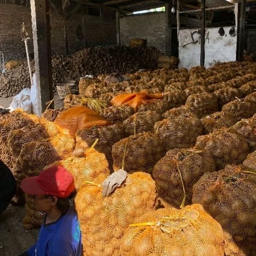
[[[236,60],[243,61],[245,47],[246,0],[238,3]]]

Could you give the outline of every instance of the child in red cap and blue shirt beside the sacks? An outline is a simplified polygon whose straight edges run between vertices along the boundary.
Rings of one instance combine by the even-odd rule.
[[[46,212],[38,240],[21,256],[81,256],[82,238],[70,200],[75,190],[71,173],[53,166],[21,182],[26,194],[34,196],[36,210]]]

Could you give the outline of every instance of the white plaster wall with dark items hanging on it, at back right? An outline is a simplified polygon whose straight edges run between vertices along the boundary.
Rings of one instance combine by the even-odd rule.
[[[230,36],[231,27],[223,28],[225,30],[224,36],[219,35],[219,27],[205,29],[205,67],[210,67],[216,62],[236,60],[237,38],[236,36]],[[189,69],[200,65],[200,34],[195,33],[193,38],[196,43],[191,43],[191,32],[195,31],[198,31],[198,29],[179,31],[179,67]]]

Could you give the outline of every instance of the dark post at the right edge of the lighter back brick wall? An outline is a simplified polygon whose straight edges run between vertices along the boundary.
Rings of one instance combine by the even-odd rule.
[[[165,55],[172,56],[172,4],[165,5]]]

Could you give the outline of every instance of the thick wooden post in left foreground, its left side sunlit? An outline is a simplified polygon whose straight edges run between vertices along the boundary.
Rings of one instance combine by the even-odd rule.
[[[30,0],[39,115],[53,100],[49,0]],[[54,108],[53,102],[50,108]]]

